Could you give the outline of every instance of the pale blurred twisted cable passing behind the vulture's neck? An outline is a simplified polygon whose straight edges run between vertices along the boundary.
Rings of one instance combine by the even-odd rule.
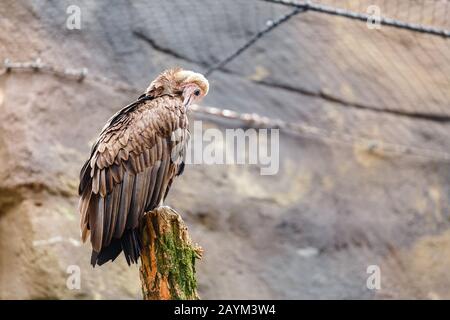
[[[135,87],[124,85],[123,83],[111,80],[107,77],[89,74],[86,68],[58,68],[35,60],[31,62],[11,62],[6,59],[3,68],[0,69],[0,76],[12,74],[15,72],[34,72],[49,74],[56,77],[78,82],[101,82],[115,89],[124,90],[133,94],[140,94],[142,90]],[[409,155],[421,158],[433,159],[437,161],[450,162],[450,153],[427,149],[423,147],[415,147],[410,145],[402,145],[389,143],[379,139],[370,139],[357,137],[338,131],[328,131],[307,123],[291,123],[281,119],[273,119],[261,116],[256,113],[239,113],[230,109],[215,108],[209,106],[192,105],[191,110],[197,114],[204,114],[220,119],[239,121],[247,127],[257,128],[277,128],[287,133],[293,133],[298,136],[310,137],[324,142],[333,142],[359,147],[362,150],[375,154],[396,154]]]

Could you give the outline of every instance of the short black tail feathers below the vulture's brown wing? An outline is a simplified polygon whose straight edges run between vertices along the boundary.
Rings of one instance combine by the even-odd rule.
[[[128,265],[137,263],[141,256],[141,241],[138,235],[138,229],[126,230],[120,239],[112,239],[111,243],[96,252],[92,250],[91,265],[101,266],[108,261],[114,261],[123,251]]]

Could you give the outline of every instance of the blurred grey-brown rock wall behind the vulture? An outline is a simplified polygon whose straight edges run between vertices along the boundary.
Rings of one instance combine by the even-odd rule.
[[[447,0],[314,2],[362,13],[377,5],[450,29]],[[67,28],[71,5],[80,30]],[[79,240],[78,174],[91,143],[161,70],[205,72],[292,9],[259,0],[1,1],[2,61],[88,72],[79,81],[0,76],[0,298],[140,299],[136,266],[120,256],[93,269]],[[311,130],[281,131],[277,175],[189,165],[174,184],[168,203],[205,250],[202,298],[450,298],[449,41],[306,12],[209,76],[204,105]],[[80,290],[66,286],[71,265]],[[380,267],[380,290],[366,286],[370,265]]]

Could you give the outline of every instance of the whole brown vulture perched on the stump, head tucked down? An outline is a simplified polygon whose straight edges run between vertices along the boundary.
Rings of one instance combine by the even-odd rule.
[[[140,256],[139,224],[162,205],[182,174],[189,140],[187,109],[208,93],[206,78],[180,68],[161,73],[137,101],[107,122],[80,172],[81,236],[90,234],[91,264],[124,252]]]

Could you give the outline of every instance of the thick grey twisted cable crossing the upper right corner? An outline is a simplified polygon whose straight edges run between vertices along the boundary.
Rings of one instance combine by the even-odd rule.
[[[330,14],[340,17],[345,17],[349,19],[354,20],[360,20],[367,22],[369,19],[373,19],[373,17],[369,14],[365,13],[359,13],[355,11],[350,11],[346,9],[336,8],[332,6],[326,6],[322,4],[313,3],[311,1],[289,1],[289,0],[259,0],[269,3],[276,3],[276,4],[282,4],[286,6],[296,7],[296,8],[303,8],[310,11],[320,12],[324,14]],[[450,30],[436,28],[432,26],[426,26],[422,24],[417,23],[409,23],[404,22],[401,20],[391,19],[388,17],[380,16],[377,18],[377,22],[379,22],[381,25],[391,26],[395,28],[400,29],[406,29],[410,31],[420,32],[420,33],[427,33],[431,35],[441,36],[444,38],[450,38]]]

